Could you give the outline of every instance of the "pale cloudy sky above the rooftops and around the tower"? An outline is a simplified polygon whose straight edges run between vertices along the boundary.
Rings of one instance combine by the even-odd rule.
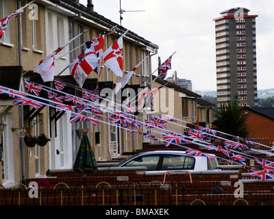
[[[176,52],[167,77],[177,72],[179,79],[192,81],[192,90],[216,90],[216,50],[214,18],[230,8],[247,8],[256,18],[258,90],[274,88],[274,1],[271,0],[93,0],[94,11],[158,45],[164,62]],[[80,0],[86,6],[86,0]],[[131,12],[142,11],[142,12]]]

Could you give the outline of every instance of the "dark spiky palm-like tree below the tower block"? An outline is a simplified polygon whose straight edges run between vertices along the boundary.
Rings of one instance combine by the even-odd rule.
[[[247,125],[247,114],[243,114],[243,108],[238,104],[237,99],[232,102],[221,104],[212,116],[214,129],[228,133],[232,136],[248,138],[250,129]],[[229,138],[229,136],[227,136]]]

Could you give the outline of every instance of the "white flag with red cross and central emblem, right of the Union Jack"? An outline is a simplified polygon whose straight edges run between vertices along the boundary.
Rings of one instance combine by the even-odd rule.
[[[104,65],[118,77],[123,77],[123,36],[127,34],[127,31],[103,53]]]

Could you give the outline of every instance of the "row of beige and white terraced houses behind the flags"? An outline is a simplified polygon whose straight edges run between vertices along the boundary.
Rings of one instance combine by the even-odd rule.
[[[0,0],[0,19],[27,3],[29,1]],[[69,0],[35,1],[25,8],[23,13],[10,20],[8,29],[0,39],[0,85],[27,92],[24,83],[24,79],[27,79],[47,88],[53,88],[53,81],[44,82],[38,73],[34,73],[34,66],[55,49],[86,30],[82,36],[73,40],[55,57],[55,78],[70,85],[63,91],[80,97],[82,92],[79,92],[77,82],[71,75],[69,64],[82,53],[82,47],[86,41],[115,26],[117,26],[115,29],[105,34],[104,51],[127,29],[97,14],[92,1],[87,1],[87,5]],[[147,86],[152,79],[149,77],[151,57],[157,55],[158,49],[158,45],[132,31],[128,31],[123,36],[123,75],[148,56],[129,79],[125,88],[132,88],[137,92],[138,88]],[[120,79],[121,77],[117,77],[110,68],[102,64],[100,77],[92,71],[83,88],[88,90],[99,88],[102,96],[103,88],[113,89]],[[152,88],[158,88],[166,82],[157,79]],[[203,107],[199,110],[202,108],[208,110],[206,112],[208,117],[199,116],[199,122],[204,122],[207,127],[210,126],[212,105],[206,102],[199,103],[197,99],[201,96],[179,88],[173,83],[164,89],[167,90],[166,95],[170,94],[172,97],[170,99],[174,100],[171,102],[174,110],[172,116],[180,120],[188,120],[189,123],[196,123],[200,104]],[[48,99],[47,91],[41,90],[39,97]],[[3,125],[0,138],[0,179],[5,188],[14,183],[24,183],[25,179],[46,175],[47,170],[71,169],[81,140],[81,135],[77,136],[77,133],[83,129],[88,132],[88,138],[98,161],[134,153],[142,149],[143,142],[148,141],[138,133],[128,136],[121,125],[114,126],[107,123],[110,116],[108,112],[101,114],[102,123],[97,125],[88,121],[70,123],[71,112],[58,111],[49,105],[43,105],[39,109],[29,105],[14,105],[14,98],[4,94],[1,94],[0,98],[0,118]],[[161,104],[161,101],[158,103]],[[162,104],[166,104],[166,101],[164,100]],[[165,112],[160,111],[161,109],[152,112],[150,110],[149,115],[157,116],[159,112],[163,114],[171,112],[171,109]],[[143,121],[147,118],[147,110],[145,108],[142,112],[136,113],[138,120]],[[45,133],[45,136],[51,140],[45,146],[38,146],[38,144],[33,147],[26,146],[20,134],[24,135],[23,131],[29,130],[29,127],[32,128],[32,136]],[[23,131],[20,128],[24,128]],[[140,129],[145,127],[142,126]],[[183,131],[182,129],[181,132]]]

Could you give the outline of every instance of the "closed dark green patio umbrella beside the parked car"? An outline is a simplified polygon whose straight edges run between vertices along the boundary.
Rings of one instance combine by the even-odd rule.
[[[73,165],[73,170],[75,172],[84,173],[85,177],[86,173],[95,173],[98,171],[95,154],[92,151],[86,131],[84,131],[79,151]]]

